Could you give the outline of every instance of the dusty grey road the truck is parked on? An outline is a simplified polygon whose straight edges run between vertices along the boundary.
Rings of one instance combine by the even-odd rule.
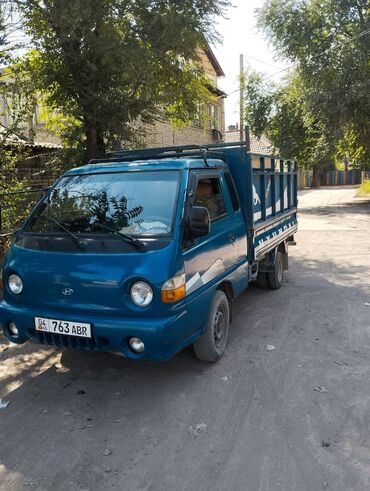
[[[301,194],[286,283],[235,302],[217,365],[2,339],[0,489],[369,490],[370,208],[354,193]]]

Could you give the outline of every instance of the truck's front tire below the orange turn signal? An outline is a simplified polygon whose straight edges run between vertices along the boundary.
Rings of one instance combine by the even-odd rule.
[[[209,309],[207,327],[194,343],[194,351],[201,361],[215,363],[224,354],[230,327],[230,306],[225,293],[216,290]]]

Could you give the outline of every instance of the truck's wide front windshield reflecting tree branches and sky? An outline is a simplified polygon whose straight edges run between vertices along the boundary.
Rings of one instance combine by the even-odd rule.
[[[177,171],[64,177],[24,231],[60,233],[62,225],[74,234],[168,235],[178,181]]]

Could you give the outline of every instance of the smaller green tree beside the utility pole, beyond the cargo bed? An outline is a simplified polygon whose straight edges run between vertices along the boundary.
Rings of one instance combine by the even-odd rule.
[[[252,132],[266,134],[275,152],[297,159],[313,170],[317,185],[320,169],[334,165],[336,142],[330,130],[311,111],[309,89],[296,72],[283,86],[267,84],[261,75],[246,76],[246,123]]]

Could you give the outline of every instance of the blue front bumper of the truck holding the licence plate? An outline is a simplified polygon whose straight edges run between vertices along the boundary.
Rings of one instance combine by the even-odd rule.
[[[92,325],[92,338],[81,338],[39,332],[35,330],[35,317],[47,317]],[[15,338],[8,330],[10,322],[14,322],[19,335]],[[132,359],[168,360],[191,344],[197,333],[189,332],[186,307],[175,315],[165,318],[122,318],[111,316],[92,316],[66,314],[64,311],[42,312],[32,308],[17,307],[0,303],[0,328],[4,335],[13,343],[22,344],[32,339],[42,344],[74,348],[85,351],[113,351],[122,353]],[[134,353],[128,344],[131,337],[140,338],[145,344],[143,353]]]

